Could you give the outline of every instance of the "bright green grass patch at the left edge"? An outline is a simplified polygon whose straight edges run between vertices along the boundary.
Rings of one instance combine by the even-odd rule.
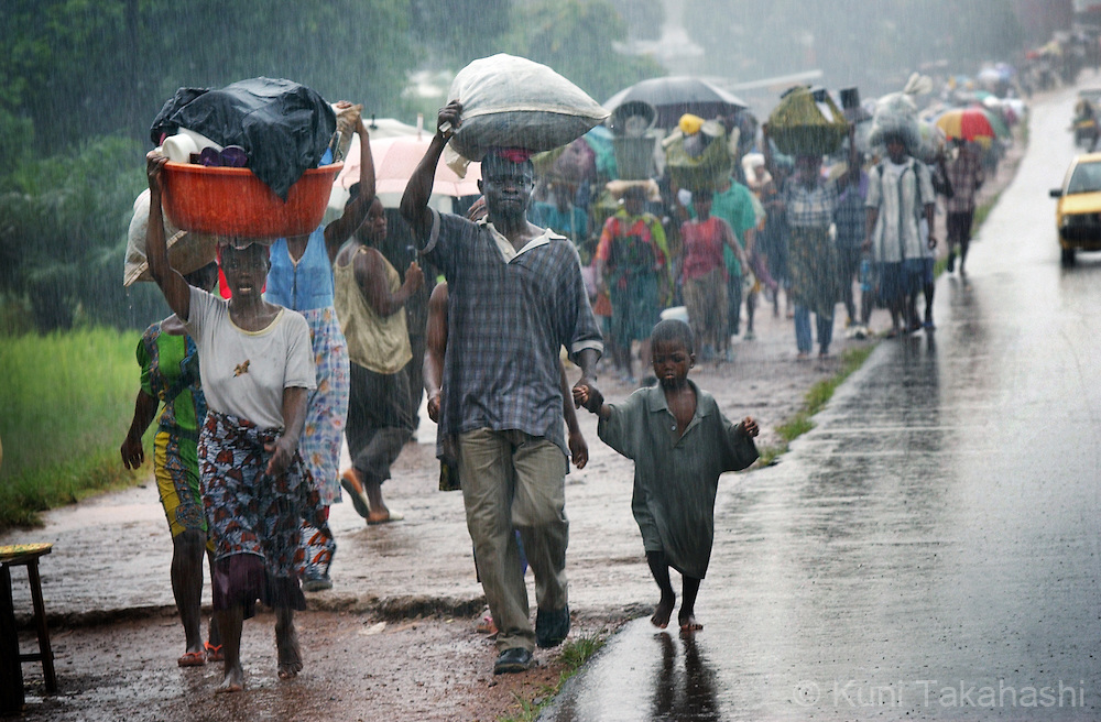
[[[0,339],[0,530],[132,485],[118,448],[129,428],[138,331],[86,328]]]

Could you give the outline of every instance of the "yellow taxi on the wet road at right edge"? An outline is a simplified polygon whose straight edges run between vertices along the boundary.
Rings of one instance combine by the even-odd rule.
[[[1101,153],[1076,157],[1051,197],[1059,199],[1055,223],[1062,265],[1075,264],[1076,251],[1101,251]]]

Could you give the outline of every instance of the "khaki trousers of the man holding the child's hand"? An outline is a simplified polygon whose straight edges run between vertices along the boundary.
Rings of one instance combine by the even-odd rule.
[[[467,529],[497,624],[497,647],[535,648],[516,535],[535,573],[535,601],[566,606],[566,456],[543,437],[477,429],[459,435]]]

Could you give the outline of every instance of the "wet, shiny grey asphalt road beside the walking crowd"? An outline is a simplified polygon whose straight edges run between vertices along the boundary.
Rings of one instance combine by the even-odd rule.
[[[633,622],[544,719],[1101,718],[1101,254],[1060,269],[1047,195],[1072,101],[1034,108],[936,332],[720,485],[706,628]]]

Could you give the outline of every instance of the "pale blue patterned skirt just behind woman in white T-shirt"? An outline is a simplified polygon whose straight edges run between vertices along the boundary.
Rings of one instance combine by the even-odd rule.
[[[317,369],[298,452],[326,506],[340,501],[340,440],[348,420],[348,344],[333,306],[298,311],[309,325]]]

